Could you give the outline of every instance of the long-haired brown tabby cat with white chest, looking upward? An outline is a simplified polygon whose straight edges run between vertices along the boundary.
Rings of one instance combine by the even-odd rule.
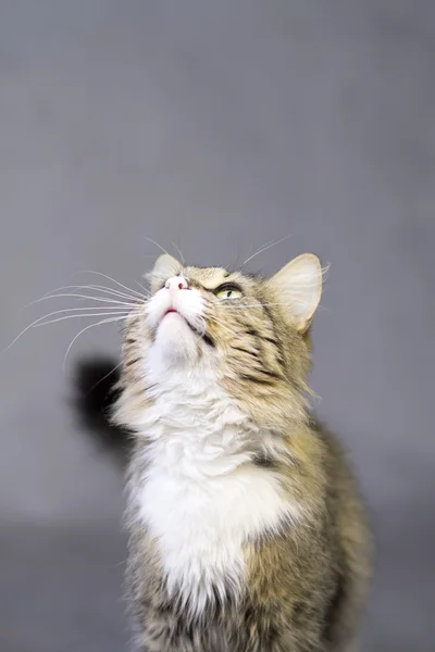
[[[87,364],[79,380],[101,379],[80,394],[87,425],[102,431],[109,410],[107,441],[122,455],[130,442],[135,649],[353,651],[371,534],[345,453],[307,400],[318,256],[264,279],[163,254],[149,283],[121,373]]]

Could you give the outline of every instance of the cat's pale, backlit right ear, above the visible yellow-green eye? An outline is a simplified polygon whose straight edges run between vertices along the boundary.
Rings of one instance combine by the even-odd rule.
[[[322,294],[322,265],[314,253],[302,253],[271,278],[281,301],[288,304],[294,326],[304,333]]]

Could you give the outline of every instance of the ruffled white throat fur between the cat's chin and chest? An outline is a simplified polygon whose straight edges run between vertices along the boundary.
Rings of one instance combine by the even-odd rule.
[[[175,368],[157,383],[141,423],[150,464],[198,478],[249,463],[257,430],[210,367]]]

